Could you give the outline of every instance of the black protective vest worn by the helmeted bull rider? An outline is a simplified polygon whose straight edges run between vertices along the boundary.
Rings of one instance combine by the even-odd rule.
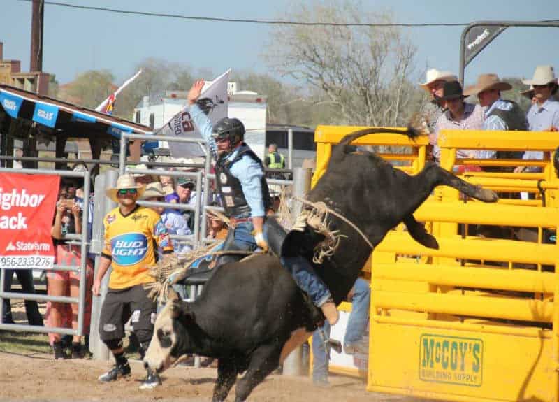
[[[257,157],[245,143],[242,145],[243,146],[235,159],[232,161],[229,161],[228,159],[220,159],[215,164],[215,182],[217,185],[217,191],[222,199],[222,207],[225,210],[226,217],[240,218],[250,216],[250,206],[247,203],[247,199],[245,199],[245,194],[242,192],[242,185],[240,184],[240,181],[231,173],[231,166],[233,166],[233,164],[235,164],[235,162],[240,160],[243,156],[247,155],[252,160],[256,161],[262,168],[262,171],[264,171],[259,157]],[[264,210],[266,211],[272,206],[272,200],[270,199],[270,190],[268,190],[268,183],[266,182],[264,175],[262,175],[261,178],[261,187]]]

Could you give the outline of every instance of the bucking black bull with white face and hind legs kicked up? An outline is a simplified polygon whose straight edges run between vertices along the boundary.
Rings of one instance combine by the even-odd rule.
[[[413,129],[365,129],[349,134],[335,147],[326,172],[307,196],[354,222],[373,246],[404,222],[416,241],[437,248],[435,238],[412,215],[437,185],[481,201],[497,201],[494,192],[474,187],[436,164],[426,164],[411,176],[372,152],[354,152],[351,141],[379,132],[417,135]],[[354,228],[333,215],[330,229],[347,237],[341,238],[332,257],[315,268],[340,303],[372,250]],[[282,249],[287,254],[310,253],[318,238],[308,227],[303,234],[291,234]],[[246,371],[235,389],[235,401],[245,401],[286,354],[305,340],[312,324],[311,310],[279,259],[250,257],[217,269],[193,303],[167,303],[157,317],[145,364],[162,371],[185,353],[217,357],[213,400],[223,401],[238,373]]]

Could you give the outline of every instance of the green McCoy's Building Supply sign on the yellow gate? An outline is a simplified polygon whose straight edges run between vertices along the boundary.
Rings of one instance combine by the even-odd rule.
[[[419,339],[419,378],[481,386],[484,343],[476,338],[423,334]]]

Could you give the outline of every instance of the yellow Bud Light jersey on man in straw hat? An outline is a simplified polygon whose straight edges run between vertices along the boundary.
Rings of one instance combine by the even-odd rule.
[[[164,253],[173,252],[167,228],[159,214],[137,206],[124,216],[117,207],[105,216],[103,224],[103,255],[112,259],[109,287],[124,289],[154,282],[148,269],[155,265],[157,247],[161,247]]]

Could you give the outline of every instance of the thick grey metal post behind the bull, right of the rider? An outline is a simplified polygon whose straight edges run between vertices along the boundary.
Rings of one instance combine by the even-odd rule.
[[[305,168],[293,169],[293,196],[305,197],[310,190],[310,182],[312,178],[312,171]],[[293,201],[291,206],[291,218],[293,222],[299,215],[303,204]],[[283,366],[283,373],[287,375],[306,375],[305,367],[306,362],[303,361],[303,345],[298,346],[293,352],[286,357]]]

